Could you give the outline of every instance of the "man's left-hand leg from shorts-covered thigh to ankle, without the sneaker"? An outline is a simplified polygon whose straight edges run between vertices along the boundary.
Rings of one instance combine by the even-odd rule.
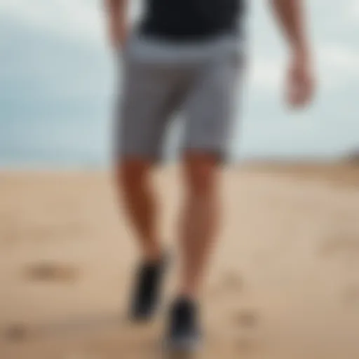
[[[140,46],[138,43],[134,47]],[[161,256],[151,169],[161,160],[165,127],[179,99],[178,79],[161,63],[128,54],[118,114],[116,179],[144,261]]]

